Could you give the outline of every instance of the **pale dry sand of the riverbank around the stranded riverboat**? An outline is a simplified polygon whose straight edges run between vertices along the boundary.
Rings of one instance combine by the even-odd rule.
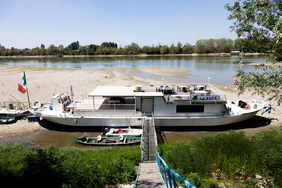
[[[152,78],[145,78],[135,73],[145,71],[151,76],[166,75],[169,77],[177,77],[189,73],[189,70],[172,69],[165,67],[152,67],[144,69],[132,69],[129,74],[125,73],[126,68],[114,69],[92,69],[92,70],[75,70],[75,69],[57,69],[57,68],[33,68],[28,66],[0,66],[0,102],[10,101],[13,95],[20,101],[27,101],[27,95],[22,94],[17,90],[17,85],[23,77],[23,71],[26,73],[26,81],[28,87],[28,94],[31,102],[35,101],[50,101],[53,96],[54,90],[56,93],[69,92],[70,85],[73,86],[73,93],[75,100],[82,100],[84,95],[83,87],[85,87],[86,95],[95,89],[98,85],[137,85],[138,83],[162,83],[162,80]],[[105,78],[107,76],[107,78]],[[174,83],[170,80],[165,80],[166,83]],[[182,83],[182,82],[177,82]],[[234,85],[217,85],[212,84],[216,88],[224,91],[227,87],[226,97],[228,100],[233,100],[236,95],[236,87]],[[240,99],[261,99],[260,96],[253,96],[245,93],[240,96]],[[269,101],[266,102],[267,105]],[[277,127],[282,121],[281,107],[275,106],[274,102],[271,103],[276,109],[275,112],[270,114],[264,113],[258,116],[266,117],[268,123],[262,124],[259,127],[243,129],[247,134],[253,134],[263,129],[270,127]],[[266,119],[265,118],[265,119]],[[256,123],[256,122],[254,122]],[[48,127],[48,126],[44,126]],[[248,126],[246,126],[248,127]],[[250,127],[250,126],[249,126]],[[241,129],[241,128],[240,128]],[[11,138],[26,137],[34,135],[38,132],[48,132],[50,130],[43,128],[37,122],[29,123],[27,120],[19,120],[14,124],[0,125],[0,142],[4,142]]]

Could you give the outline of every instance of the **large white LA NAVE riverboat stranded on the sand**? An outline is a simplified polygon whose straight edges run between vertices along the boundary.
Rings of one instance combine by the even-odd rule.
[[[43,105],[29,110],[75,130],[140,128],[143,115],[151,118],[153,114],[151,124],[160,130],[183,131],[244,121],[265,106],[261,100],[243,100],[246,105],[241,108],[239,101],[227,101],[225,93],[209,83],[98,86],[88,97],[71,102],[67,94],[56,94],[52,97],[53,108]]]

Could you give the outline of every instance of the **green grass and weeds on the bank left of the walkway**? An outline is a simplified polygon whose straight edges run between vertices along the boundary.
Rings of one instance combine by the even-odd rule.
[[[134,179],[139,162],[138,146],[58,149],[1,144],[0,180],[10,187],[116,187]]]

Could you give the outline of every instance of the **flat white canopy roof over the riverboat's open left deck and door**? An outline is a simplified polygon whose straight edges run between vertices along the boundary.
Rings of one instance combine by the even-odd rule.
[[[133,92],[135,86],[98,86],[88,96],[102,97],[134,97],[134,96],[162,96],[162,92]]]

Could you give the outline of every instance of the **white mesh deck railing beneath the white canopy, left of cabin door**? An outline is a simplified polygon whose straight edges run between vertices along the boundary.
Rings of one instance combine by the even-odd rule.
[[[74,111],[93,110],[93,104],[75,104],[72,103]],[[135,111],[135,104],[94,104],[95,111]]]

